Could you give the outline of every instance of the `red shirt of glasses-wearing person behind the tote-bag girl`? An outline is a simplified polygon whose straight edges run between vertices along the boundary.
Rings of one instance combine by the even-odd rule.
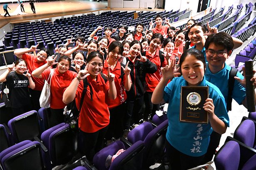
[[[47,61],[43,61],[43,62],[39,63],[37,61],[37,56],[34,56],[32,54],[29,54],[29,53],[23,54],[22,55],[22,59],[27,62],[27,69],[29,69],[29,73],[30,74],[35,69],[37,69],[38,67],[40,67],[40,66],[44,65],[45,63],[47,63]],[[33,76],[31,76],[31,77],[32,77],[32,80],[35,82],[35,89],[34,90],[42,91],[42,87],[44,87],[44,84],[45,84],[45,79],[43,79],[43,78],[35,78]]]

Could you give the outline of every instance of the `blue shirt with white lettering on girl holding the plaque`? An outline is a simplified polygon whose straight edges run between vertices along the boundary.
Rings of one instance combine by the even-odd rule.
[[[207,151],[212,132],[211,124],[186,123],[179,121],[179,108],[181,86],[187,86],[186,80],[181,76],[174,78],[164,88],[164,100],[169,103],[167,117],[167,141],[181,153],[189,156],[201,156]],[[214,102],[214,113],[229,126],[229,116],[226,111],[224,97],[219,88],[204,79],[199,86],[209,87],[209,98]]]

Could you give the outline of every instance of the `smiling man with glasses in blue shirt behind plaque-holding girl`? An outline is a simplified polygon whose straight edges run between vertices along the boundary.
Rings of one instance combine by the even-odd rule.
[[[227,102],[231,67],[226,65],[225,61],[232,53],[234,47],[233,39],[229,34],[219,32],[208,36],[204,47],[206,49],[206,59],[208,61],[204,74],[206,80],[219,87],[219,90],[224,95],[225,101]],[[253,78],[254,85],[256,85],[255,79],[256,76]],[[244,107],[247,107],[245,87],[246,81],[244,76],[240,72],[237,72],[231,97],[236,100],[238,104],[243,104]],[[220,138],[220,134],[217,134],[214,131],[212,132],[208,151],[203,163],[211,161],[216,148],[219,146]]]

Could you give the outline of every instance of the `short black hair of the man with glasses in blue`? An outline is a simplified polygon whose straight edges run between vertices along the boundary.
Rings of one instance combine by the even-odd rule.
[[[219,32],[217,34],[211,34],[207,37],[204,47],[207,50],[211,43],[214,43],[218,46],[224,46],[227,51],[230,51],[234,48],[234,41],[232,37],[226,32]]]

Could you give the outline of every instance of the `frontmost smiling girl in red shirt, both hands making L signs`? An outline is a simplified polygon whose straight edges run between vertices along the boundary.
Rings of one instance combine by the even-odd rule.
[[[115,75],[110,73],[110,68],[107,71],[108,81],[106,83],[100,75],[103,62],[103,56],[99,52],[90,53],[85,70],[80,70],[63,94],[65,104],[75,99],[77,108],[80,108],[84,79],[87,79],[88,87],[83,98],[78,126],[83,138],[82,145],[86,158],[90,161],[94,154],[103,147],[104,136],[109,125],[107,99],[114,100],[117,97]]]

